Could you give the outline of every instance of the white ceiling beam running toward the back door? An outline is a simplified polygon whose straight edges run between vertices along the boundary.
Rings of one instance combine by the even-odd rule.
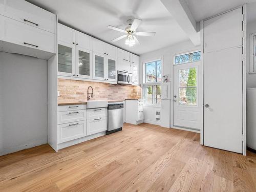
[[[195,46],[200,45],[200,32],[197,30],[197,22],[192,16],[185,0],[161,0],[165,8],[187,34]]]

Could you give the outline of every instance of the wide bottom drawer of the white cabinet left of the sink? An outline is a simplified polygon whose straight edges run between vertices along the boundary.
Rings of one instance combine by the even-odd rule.
[[[58,143],[86,136],[87,121],[78,121],[58,125]]]

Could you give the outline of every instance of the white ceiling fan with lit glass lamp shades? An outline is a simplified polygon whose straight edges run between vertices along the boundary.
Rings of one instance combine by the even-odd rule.
[[[126,33],[125,35],[117,37],[111,41],[116,42],[126,37],[127,39],[125,40],[125,45],[128,45],[129,47],[133,47],[135,44],[140,44],[136,36],[155,36],[156,34],[155,32],[136,32],[136,29],[139,27],[141,22],[142,20],[138,18],[129,19],[127,20],[128,26],[125,29],[120,29],[120,28],[109,25],[108,26],[109,29]]]

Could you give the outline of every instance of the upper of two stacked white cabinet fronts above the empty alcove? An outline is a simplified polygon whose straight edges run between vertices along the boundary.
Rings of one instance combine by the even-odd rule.
[[[56,33],[55,14],[41,9],[24,0],[2,0],[0,1],[0,14],[23,22],[35,28]]]

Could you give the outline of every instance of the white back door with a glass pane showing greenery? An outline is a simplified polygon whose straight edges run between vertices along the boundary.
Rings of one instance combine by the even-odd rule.
[[[200,61],[174,66],[174,126],[200,130],[202,90]]]

